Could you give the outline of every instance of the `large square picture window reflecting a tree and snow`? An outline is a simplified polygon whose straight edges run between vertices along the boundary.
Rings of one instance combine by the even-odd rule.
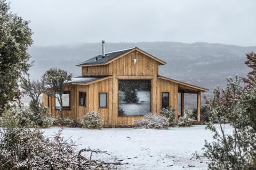
[[[119,116],[139,116],[150,112],[150,82],[150,80],[119,80]]]

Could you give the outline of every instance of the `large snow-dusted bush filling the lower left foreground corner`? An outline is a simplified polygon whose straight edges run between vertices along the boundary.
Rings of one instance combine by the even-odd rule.
[[[52,139],[44,138],[39,129],[6,128],[0,130],[0,169],[110,169],[110,164],[92,160],[72,140],[60,137],[62,129]],[[106,153],[106,152],[104,152]]]

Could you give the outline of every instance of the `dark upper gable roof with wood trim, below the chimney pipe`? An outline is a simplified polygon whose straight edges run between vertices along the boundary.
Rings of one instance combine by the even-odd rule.
[[[78,63],[76,66],[107,65],[107,64],[113,62],[114,60],[117,60],[119,57],[122,57],[128,53],[133,52],[134,50],[137,50],[137,51],[147,55],[148,57],[153,58],[154,60],[159,62],[161,65],[165,64],[165,62],[163,62],[162,60],[159,60],[155,56],[144,52],[143,50],[139,49],[138,47],[133,47],[133,48],[129,48],[129,49],[122,49],[122,50],[118,50],[115,52],[106,53],[105,57],[102,57],[102,55],[99,54],[95,57],[90,58],[89,60]]]

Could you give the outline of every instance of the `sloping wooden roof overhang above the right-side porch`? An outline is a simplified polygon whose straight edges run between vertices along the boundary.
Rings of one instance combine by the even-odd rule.
[[[179,92],[188,93],[188,94],[197,94],[198,92],[209,91],[209,89],[194,86],[192,84],[188,84],[188,83],[181,82],[181,81],[178,81],[178,80],[174,80],[174,79],[170,79],[170,78],[166,78],[166,77],[162,77],[162,76],[158,76],[158,78],[177,83]]]

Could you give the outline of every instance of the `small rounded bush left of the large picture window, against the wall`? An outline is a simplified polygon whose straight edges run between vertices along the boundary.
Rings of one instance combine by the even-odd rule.
[[[83,117],[82,124],[83,124],[83,128],[100,129],[102,125],[101,125],[99,113],[97,112],[87,113]]]

